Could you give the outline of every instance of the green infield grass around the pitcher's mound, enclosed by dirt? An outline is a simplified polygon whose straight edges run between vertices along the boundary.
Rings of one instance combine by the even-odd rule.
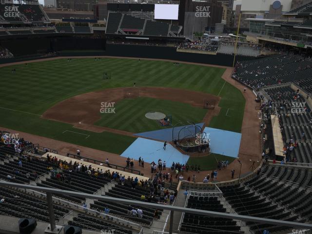
[[[142,133],[164,129],[159,121],[145,117],[148,112],[171,115],[173,125],[179,121],[201,123],[207,113],[206,109],[193,107],[190,104],[155,98],[123,99],[115,104],[115,108],[116,113],[102,114],[102,118],[96,125]]]

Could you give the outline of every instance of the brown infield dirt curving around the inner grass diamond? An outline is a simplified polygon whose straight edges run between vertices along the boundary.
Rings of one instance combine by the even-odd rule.
[[[76,128],[92,132],[107,131],[121,135],[133,136],[133,133],[126,131],[94,125],[94,123],[101,118],[101,102],[118,102],[124,98],[124,90],[127,89],[129,88],[105,89],[68,98],[48,109],[43,113],[42,117],[70,123]],[[139,90],[139,97],[178,101],[188,103],[199,108],[203,108],[205,99],[213,100],[215,102],[215,109],[207,111],[207,114],[203,119],[206,125],[209,124],[213,116],[218,115],[220,110],[217,106],[220,98],[211,94],[164,87],[140,87],[137,89]]]

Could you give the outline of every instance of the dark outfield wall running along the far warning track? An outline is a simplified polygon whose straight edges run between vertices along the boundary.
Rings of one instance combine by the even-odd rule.
[[[2,40],[0,44],[8,48],[16,57],[0,59],[0,64],[42,59],[56,56],[116,56],[149,59],[171,59],[185,62],[232,66],[233,55],[209,55],[176,52],[176,47],[145,46],[133,44],[106,43],[106,39],[53,37]],[[58,52],[51,54],[51,52]],[[46,53],[50,53],[49,56]],[[236,56],[236,61],[254,60],[255,57]]]

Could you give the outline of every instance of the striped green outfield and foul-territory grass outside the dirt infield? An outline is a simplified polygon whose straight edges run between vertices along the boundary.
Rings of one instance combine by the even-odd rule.
[[[11,70],[16,69],[12,74]],[[56,103],[95,90],[161,86],[219,95],[222,108],[210,127],[240,132],[245,99],[221,76],[225,69],[137,59],[56,59],[0,68],[0,126],[120,154],[135,138],[97,134],[40,117]],[[112,78],[103,80],[103,74]],[[140,107],[137,107],[139,110]],[[129,122],[129,125],[132,123]],[[89,135],[87,139],[64,131]]]

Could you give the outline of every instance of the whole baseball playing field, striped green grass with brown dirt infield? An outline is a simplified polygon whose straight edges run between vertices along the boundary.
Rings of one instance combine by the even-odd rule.
[[[224,68],[184,63],[176,66],[170,61],[115,58],[55,59],[5,66],[0,68],[0,126],[121,154],[136,139],[130,133],[163,128],[146,118],[147,112],[170,115],[173,124],[203,122],[213,110],[203,108],[204,100],[192,99],[201,93],[202,97],[218,100],[219,112],[211,117],[209,126],[240,132],[245,99],[240,90],[221,78],[224,71]],[[104,74],[110,78],[104,78]],[[137,88],[143,87],[142,96],[110,99],[111,90],[114,93],[113,90],[133,87],[134,82]],[[154,91],[149,94],[149,89]],[[159,93],[159,89],[165,93]],[[171,97],[173,91],[175,98]],[[103,92],[108,100],[115,102],[115,114],[100,114],[98,103],[105,100],[90,103],[92,98],[104,97],[100,96]],[[86,97],[89,102],[84,102]],[[72,105],[77,100],[81,106]],[[91,106],[93,109],[89,110]],[[47,113],[53,108],[59,109],[49,117]],[[79,113],[92,117],[81,117],[88,126],[93,124],[129,134],[78,128]]]

